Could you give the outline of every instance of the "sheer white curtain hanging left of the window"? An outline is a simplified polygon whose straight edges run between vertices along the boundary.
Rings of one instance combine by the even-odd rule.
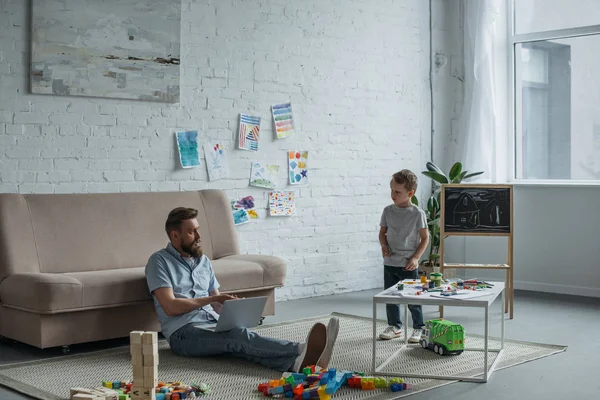
[[[455,159],[471,182],[507,182],[512,171],[508,114],[509,44],[507,0],[461,0],[464,99]]]

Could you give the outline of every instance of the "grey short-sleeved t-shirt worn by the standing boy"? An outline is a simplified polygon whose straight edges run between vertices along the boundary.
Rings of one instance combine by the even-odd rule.
[[[412,205],[402,208],[391,204],[383,209],[380,225],[387,228],[387,242],[392,252],[391,257],[383,258],[384,265],[405,267],[421,242],[419,230],[427,228],[425,212]]]

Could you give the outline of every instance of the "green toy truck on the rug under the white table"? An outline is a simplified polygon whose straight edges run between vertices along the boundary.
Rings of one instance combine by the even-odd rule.
[[[440,356],[460,354],[465,349],[465,330],[460,324],[433,319],[425,324],[420,343]]]

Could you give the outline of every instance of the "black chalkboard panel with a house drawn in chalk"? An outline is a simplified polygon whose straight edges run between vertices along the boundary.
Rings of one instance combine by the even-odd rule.
[[[510,232],[510,192],[503,188],[446,188],[446,232]]]

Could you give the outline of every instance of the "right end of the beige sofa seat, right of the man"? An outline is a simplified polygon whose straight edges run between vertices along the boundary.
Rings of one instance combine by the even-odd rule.
[[[281,286],[285,280],[285,261],[275,256],[238,254],[212,263],[221,291]]]

